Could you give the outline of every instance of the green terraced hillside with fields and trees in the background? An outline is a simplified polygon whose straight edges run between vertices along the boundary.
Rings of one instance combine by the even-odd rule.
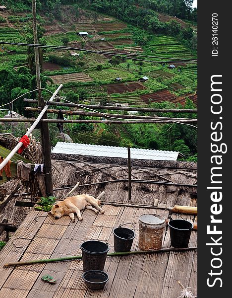
[[[71,47],[40,50],[43,86],[54,91],[62,83],[59,94],[79,104],[194,108],[196,11],[191,11],[191,1],[175,2],[174,5],[171,0],[37,0],[39,42]],[[5,0],[2,4],[7,10],[0,12],[0,20],[4,20],[0,23],[0,41],[32,43],[31,0]],[[88,35],[82,37],[78,35],[80,31],[87,31]],[[1,45],[0,105],[35,89],[33,53],[33,48]],[[125,56],[128,54],[135,56]],[[142,76],[148,80],[139,81]],[[47,91],[43,95],[45,99],[50,97]],[[35,96],[27,94],[28,98]],[[24,111],[25,105],[20,98],[13,109],[34,116]],[[10,129],[2,126],[2,130]],[[14,129],[15,135],[21,135],[24,128]],[[54,145],[58,130],[52,124],[50,130]],[[196,129],[176,123],[66,124],[65,131],[73,142],[179,150],[189,160],[197,151]]]

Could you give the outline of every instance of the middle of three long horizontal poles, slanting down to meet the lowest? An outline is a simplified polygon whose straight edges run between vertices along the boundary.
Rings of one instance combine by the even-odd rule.
[[[33,107],[24,107],[25,111],[38,112],[40,108]],[[58,114],[60,110],[49,109],[48,113]],[[66,115],[80,115],[80,116],[91,116],[91,117],[111,117],[111,118],[124,118],[124,119],[138,119],[138,120],[193,120],[190,118],[172,118],[172,117],[158,117],[158,116],[137,116],[137,115],[122,115],[122,114],[109,114],[109,113],[100,113],[100,112],[83,112],[83,111],[70,111],[70,110],[61,110],[61,113]]]

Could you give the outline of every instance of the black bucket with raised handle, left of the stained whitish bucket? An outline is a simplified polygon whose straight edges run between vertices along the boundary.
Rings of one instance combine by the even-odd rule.
[[[113,230],[114,247],[116,252],[130,251],[135,237],[134,230],[127,227],[121,227],[122,225],[119,225]]]

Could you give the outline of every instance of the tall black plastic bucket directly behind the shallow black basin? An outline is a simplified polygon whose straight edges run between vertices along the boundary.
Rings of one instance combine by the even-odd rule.
[[[104,270],[110,246],[102,241],[89,240],[80,245],[84,271]]]

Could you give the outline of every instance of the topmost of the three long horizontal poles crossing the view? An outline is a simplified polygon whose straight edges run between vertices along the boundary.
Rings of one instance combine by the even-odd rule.
[[[36,99],[24,98],[25,102],[38,103]],[[69,102],[54,101],[51,105],[61,107],[73,107],[73,108],[87,108],[97,110],[116,110],[116,111],[135,111],[135,112],[147,112],[147,113],[197,113],[195,109],[153,109],[153,108],[131,108],[131,107],[118,107],[118,106],[103,106],[103,105],[90,105],[90,104],[75,104]]]

